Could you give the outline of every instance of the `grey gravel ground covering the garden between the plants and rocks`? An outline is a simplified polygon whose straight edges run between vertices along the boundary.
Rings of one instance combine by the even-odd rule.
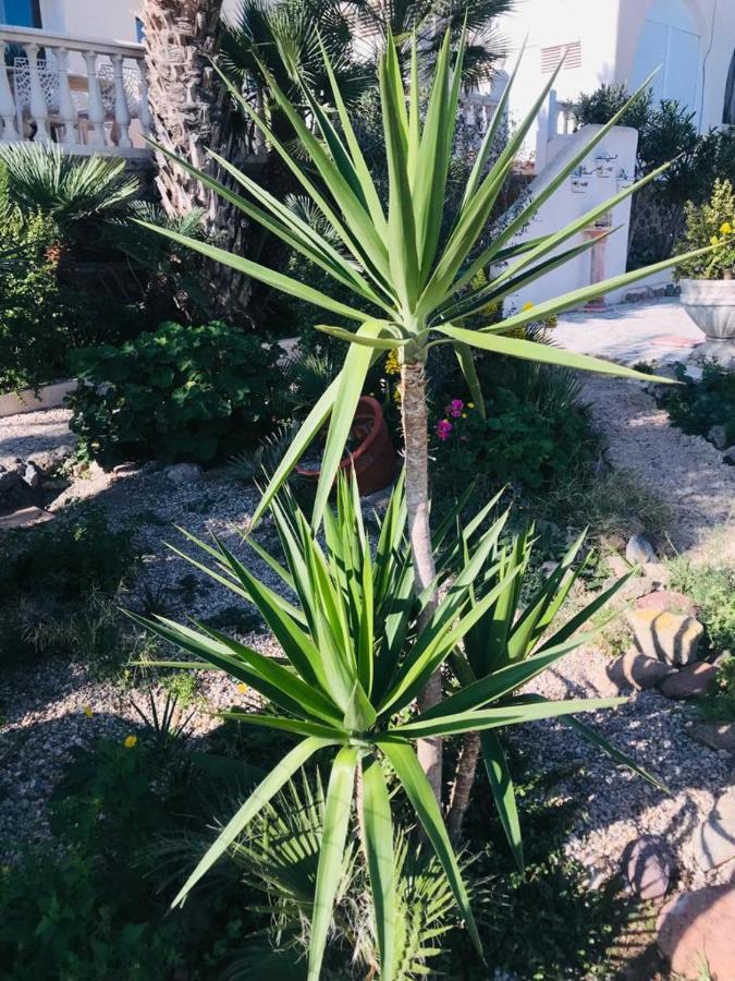
[[[700,547],[711,530],[728,517],[735,500],[735,469],[722,467],[709,444],[672,429],[665,414],[637,384],[595,379],[587,395],[610,439],[613,460],[634,469],[671,500],[676,512],[675,543]],[[44,415],[49,419],[45,421]],[[16,456],[69,441],[64,420],[63,413],[53,411],[3,421],[0,449]],[[173,525],[180,524],[200,536],[215,531],[245,554],[234,526],[243,526],[255,507],[257,492],[253,488],[232,482],[222,472],[199,475],[182,485],[152,468],[124,476],[91,468],[50,510],[61,512],[83,499],[94,499],[106,508],[113,524],[134,529],[138,536],[145,552],[144,569],[126,597],[131,606],[139,607],[155,596],[157,605],[174,617],[217,616],[219,626],[237,632],[256,628],[247,618],[243,622],[243,604],[234,594],[212,584],[164,544],[179,538]],[[272,528],[264,522],[259,541],[268,543],[272,535]],[[248,566],[272,584],[272,572],[252,553]],[[260,650],[272,650],[266,634],[253,634],[248,641]],[[605,674],[609,663],[600,652],[581,650],[532,688],[553,698],[615,694]],[[213,724],[212,710],[237,699],[237,690],[231,681],[207,675],[203,699],[203,711],[193,724],[197,734]],[[93,711],[90,718],[84,712],[87,706]],[[733,759],[694,742],[686,735],[686,712],[658,693],[645,692],[616,712],[599,713],[595,718],[608,738],[671,788],[671,797],[615,767],[562,724],[538,723],[510,734],[534,765],[568,768],[573,774],[558,787],[560,796],[579,802],[568,851],[590,867],[592,877],[616,870],[628,840],[658,833],[677,851],[685,884],[701,882],[691,855],[693,835],[716,796],[732,783]],[[103,732],[124,738],[136,716],[119,688],[93,682],[84,668],[60,661],[0,678],[0,713],[4,716],[0,725],[0,841],[12,852],[19,839],[39,840],[48,834],[46,800],[70,748],[89,744]],[[710,881],[732,872],[721,867]]]

